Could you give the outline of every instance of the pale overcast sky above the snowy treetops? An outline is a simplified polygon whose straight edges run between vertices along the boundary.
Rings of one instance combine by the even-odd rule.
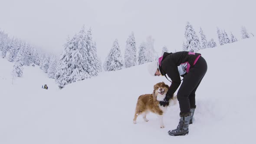
[[[137,48],[147,36],[160,52],[182,49],[185,24],[218,43],[216,27],[240,39],[241,26],[256,35],[255,0],[0,0],[0,29],[47,52],[60,54],[67,36],[92,27],[98,55],[105,60],[118,39],[133,31]],[[219,44],[219,43],[218,43]]]

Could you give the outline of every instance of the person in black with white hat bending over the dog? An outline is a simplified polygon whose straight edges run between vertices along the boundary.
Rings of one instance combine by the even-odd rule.
[[[200,53],[195,52],[175,52],[161,56],[158,61],[148,65],[151,75],[164,75],[171,79],[171,86],[160,105],[168,106],[169,99],[181,85],[177,92],[177,99],[180,105],[180,122],[176,129],[168,131],[172,136],[188,134],[188,126],[192,124],[194,111],[196,108],[195,92],[203,76],[207,72],[207,62]],[[167,76],[166,76],[167,75]],[[181,77],[184,77],[181,84]]]

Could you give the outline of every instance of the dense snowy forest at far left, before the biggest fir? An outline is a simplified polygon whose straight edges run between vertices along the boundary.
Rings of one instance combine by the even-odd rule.
[[[0,30],[1,57],[13,62],[13,76],[23,75],[23,66],[39,65],[39,68],[54,79],[56,71],[56,56],[35,48],[23,40],[10,38]]]

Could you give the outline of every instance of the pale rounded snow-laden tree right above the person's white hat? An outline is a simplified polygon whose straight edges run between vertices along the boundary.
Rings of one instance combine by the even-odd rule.
[[[144,52],[146,57],[146,62],[153,62],[158,60],[158,53],[154,49],[154,39],[148,36],[146,39],[146,50]]]

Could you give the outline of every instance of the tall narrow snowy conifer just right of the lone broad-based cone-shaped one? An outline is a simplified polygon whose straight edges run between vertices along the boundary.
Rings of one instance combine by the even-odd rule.
[[[132,32],[126,40],[125,46],[125,68],[137,65],[137,56],[136,56],[136,42],[134,33]]]

